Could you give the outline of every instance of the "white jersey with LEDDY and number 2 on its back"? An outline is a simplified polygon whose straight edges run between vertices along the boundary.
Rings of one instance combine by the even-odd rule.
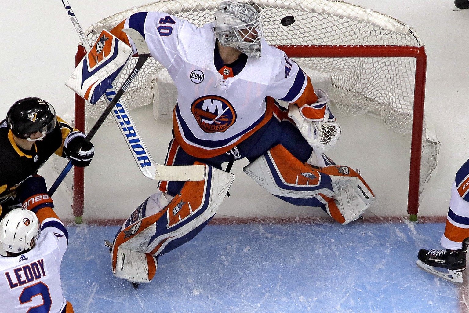
[[[67,249],[68,232],[56,218],[41,223],[36,246],[17,257],[0,256],[0,313],[61,313],[60,266]]]

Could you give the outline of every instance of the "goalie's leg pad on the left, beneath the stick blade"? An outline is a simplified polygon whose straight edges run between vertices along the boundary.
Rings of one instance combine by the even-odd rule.
[[[188,242],[204,228],[234,180],[231,173],[206,167],[204,181],[184,183],[170,201],[159,192],[132,213],[113,242],[115,276],[150,282],[157,268],[156,257]]]

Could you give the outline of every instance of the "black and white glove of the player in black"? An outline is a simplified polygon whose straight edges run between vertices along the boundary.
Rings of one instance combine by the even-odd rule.
[[[81,131],[73,131],[65,138],[63,153],[72,165],[85,167],[90,165],[94,156],[94,145]]]

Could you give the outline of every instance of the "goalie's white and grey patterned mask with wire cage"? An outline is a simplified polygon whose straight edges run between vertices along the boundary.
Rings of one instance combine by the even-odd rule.
[[[234,0],[223,1],[215,12],[215,37],[222,46],[248,56],[261,56],[262,20],[256,8]]]

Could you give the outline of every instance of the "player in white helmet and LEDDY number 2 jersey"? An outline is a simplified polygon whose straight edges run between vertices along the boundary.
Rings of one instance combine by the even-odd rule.
[[[60,277],[68,231],[45,197],[43,177],[30,177],[22,189],[18,197],[23,208],[0,221],[0,243],[6,251],[0,256],[0,313],[73,313]],[[30,192],[35,196],[24,198]]]

